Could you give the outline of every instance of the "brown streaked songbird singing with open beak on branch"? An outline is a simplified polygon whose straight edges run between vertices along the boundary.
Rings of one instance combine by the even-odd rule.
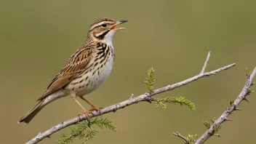
[[[110,75],[115,58],[113,36],[116,31],[125,29],[116,26],[126,22],[127,20],[116,21],[106,17],[95,20],[89,26],[87,41],[69,57],[44,94],[36,100],[36,105],[18,121],[18,124],[21,122],[28,124],[44,106],[65,96],[71,96],[82,108],[88,120],[91,111],[99,111],[102,114],[100,108],[92,105],[84,95],[95,91]],[[80,97],[92,109],[87,111],[76,97]]]

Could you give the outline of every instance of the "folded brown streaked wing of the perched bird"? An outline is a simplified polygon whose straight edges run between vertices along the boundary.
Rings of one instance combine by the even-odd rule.
[[[73,81],[73,79],[76,79],[84,70],[89,68],[92,64],[92,51],[92,48],[78,49],[73,55],[71,55],[68,62],[65,64],[65,67],[57,74],[57,76],[55,76],[55,79],[53,79],[51,84],[49,84],[44,95],[42,95],[38,100],[42,100],[44,97],[51,95],[58,89],[65,87]]]

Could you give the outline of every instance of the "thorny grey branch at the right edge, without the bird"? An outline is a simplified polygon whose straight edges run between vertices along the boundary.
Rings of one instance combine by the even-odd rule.
[[[209,127],[207,132],[205,132],[204,135],[202,135],[198,140],[196,140],[196,142],[194,144],[204,143],[212,135],[218,135],[218,134],[215,134],[216,127],[220,127],[220,125],[224,121],[231,121],[231,119],[228,119],[228,116],[233,111],[240,110],[239,108],[237,108],[237,106],[241,103],[241,101],[243,101],[243,100],[248,101],[246,96],[249,95],[250,93],[252,93],[252,91],[249,88],[254,84],[254,83],[252,83],[252,79],[255,77],[255,74],[256,74],[256,67],[255,67],[254,71],[252,71],[252,73],[247,76],[247,82],[244,85],[244,88],[242,89],[240,95],[233,102],[233,104],[231,104],[230,108],[226,109],[224,111],[224,113],[220,116],[220,118],[215,120],[215,122],[212,124],[211,127]],[[218,136],[220,136],[220,135],[218,135]]]

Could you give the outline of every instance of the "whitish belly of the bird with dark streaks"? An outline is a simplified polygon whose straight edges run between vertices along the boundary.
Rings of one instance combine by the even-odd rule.
[[[77,96],[87,95],[103,84],[110,75],[112,68],[113,58],[110,57],[105,65],[101,63],[100,65],[97,65],[97,67],[92,68],[92,71],[84,71],[80,78],[71,81],[65,89],[75,92]]]

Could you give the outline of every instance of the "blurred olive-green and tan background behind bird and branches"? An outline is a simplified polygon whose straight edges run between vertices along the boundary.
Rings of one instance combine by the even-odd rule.
[[[256,65],[256,1],[1,1],[1,131],[0,143],[25,143],[39,132],[81,113],[70,97],[44,108],[30,124],[17,124],[43,94],[68,57],[84,43],[89,25],[100,17],[128,20],[116,33],[116,60],[111,76],[100,89],[87,95],[99,107],[107,107],[146,91],[148,68],[156,68],[156,88],[175,84],[201,71],[211,51],[207,71],[236,63],[223,71],[158,95],[184,96],[196,103],[196,111],[169,105],[167,110],[138,103],[108,113],[117,132],[100,130],[91,144],[183,143],[172,135],[201,136],[202,121],[219,117],[228,100],[241,92],[244,68]],[[256,79],[255,79],[256,81]],[[255,87],[253,89],[256,89]],[[156,96],[157,97],[157,96]],[[256,95],[241,103],[207,143],[254,143]],[[83,103],[86,108],[89,106]],[[41,143],[54,143],[64,129]],[[74,143],[82,143],[75,140]]]

